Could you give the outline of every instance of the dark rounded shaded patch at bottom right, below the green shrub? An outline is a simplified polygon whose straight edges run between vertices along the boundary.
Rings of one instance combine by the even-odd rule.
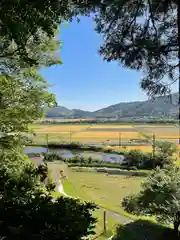
[[[180,240],[170,228],[146,220],[118,226],[113,240]]]

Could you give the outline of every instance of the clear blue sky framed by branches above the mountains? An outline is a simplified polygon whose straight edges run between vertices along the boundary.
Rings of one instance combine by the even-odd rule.
[[[41,73],[53,84],[50,90],[59,105],[93,111],[119,102],[147,99],[139,86],[141,73],[117,62],[107,63],[98,54],[102,39],[90,18],[61,26],[58,38],[63,41],[63,64]]]

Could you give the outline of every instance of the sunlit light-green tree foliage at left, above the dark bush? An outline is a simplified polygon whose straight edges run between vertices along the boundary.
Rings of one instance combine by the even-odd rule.
[[[37,61],[36,68],[30,67],[18,55],[0,59],[0,147],[12,146],[13,139],[20,143],[23,140],[21,133],[27,133],[29,124],[43,116],[44,106],[55,104],[54,95],[48,91],[49,85],[38,71],[60,64],[57,56],[60,43],[45,34],[40,35],[39,45],[32,40],[26,45],[29,56]],[[7,53],[8,50],[2,45],[0,51]]]

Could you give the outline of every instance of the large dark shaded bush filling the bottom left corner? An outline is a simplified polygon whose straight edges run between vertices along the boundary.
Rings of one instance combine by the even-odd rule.
[[[44,185],[39,170],[17,150],[0,154],[1,237],[79,240],[93,234],[95,205],[63,197],[54,200],[55,186]]]

